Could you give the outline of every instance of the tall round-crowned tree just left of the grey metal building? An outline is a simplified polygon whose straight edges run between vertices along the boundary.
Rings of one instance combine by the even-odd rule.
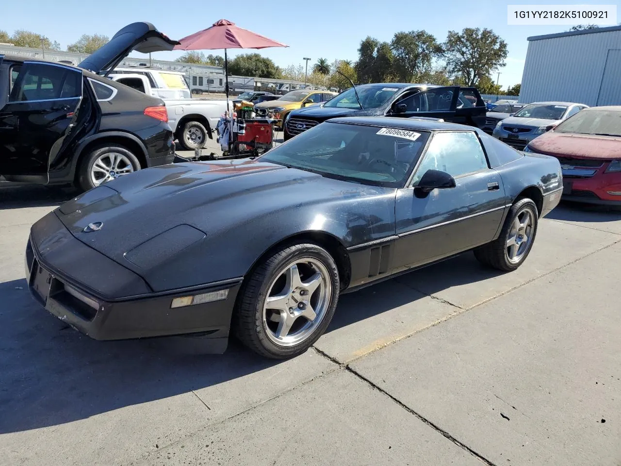
[[[483,76],[505,65],[507,43],[491,29],[466,27],[459,32],[449,31],[443,43],[448,71],[463,76],[466,85],[475,86]]]

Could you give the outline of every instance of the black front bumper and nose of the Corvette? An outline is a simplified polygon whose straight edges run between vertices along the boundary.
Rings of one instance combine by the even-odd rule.
[[[50,215],[55,216],[53,212]],[[60,221],[58,224],[62,229],[52,232],[42,245],[37,245],[37,237],[50,233],[50,227],[38,232],[35,224],[25,252],[30,293],[49,313],[96,340],[201,334],[209,343],[207,350],[224,352],[241,278],[165,293],[148,288],[145,292],[140,277],[82,244]],[[65,270],[67,265],[75,267]],[[135,286],[125,288],[127,296],[120,298],[106,296],[75,279],[80,276],[93,282],[99,276],[100,281],[114,282],[119,276],[122,281],[132,280],[132,275]],[[174,298],[221,290],[228,290],[224,298],[210,295],[217,296],[217,301],[171,308]]]

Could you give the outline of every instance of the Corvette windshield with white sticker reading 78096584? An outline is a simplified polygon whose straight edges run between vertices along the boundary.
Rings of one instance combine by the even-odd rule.
[[[401,188],[428,135],[412,129],[325,122],[260,159],[345,181]]]

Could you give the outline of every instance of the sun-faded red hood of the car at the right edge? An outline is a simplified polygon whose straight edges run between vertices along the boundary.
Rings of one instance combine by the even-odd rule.
[[[570,158],[621,158],[621,137],[547,132],[528,147],[535,152]]]

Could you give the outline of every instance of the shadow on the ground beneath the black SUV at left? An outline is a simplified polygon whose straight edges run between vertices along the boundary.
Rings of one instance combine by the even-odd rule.
[[[0,209],[60,206],[78,193],[75,188],[0,181]]]

